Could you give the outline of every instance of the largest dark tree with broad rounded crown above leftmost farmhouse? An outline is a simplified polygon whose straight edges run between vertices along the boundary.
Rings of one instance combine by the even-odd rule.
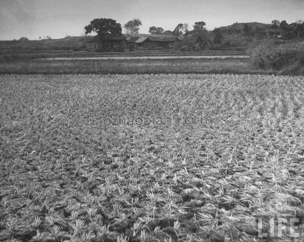
[[[93,19],[89,25],[85,26],[85,33],[91,33],[92,31],[103,37],[105,34],[122,34],[122,26],[117,23],[116,20],[99,18]]]

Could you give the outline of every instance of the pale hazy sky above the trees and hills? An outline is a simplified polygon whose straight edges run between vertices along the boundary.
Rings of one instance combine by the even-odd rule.
[[[0,0],[0,39],[79,36],[94,18],[112,18],[122,26],[139,18],[140,33],[197,21],[211,30],[235,22],[304,20],[304,0]]]

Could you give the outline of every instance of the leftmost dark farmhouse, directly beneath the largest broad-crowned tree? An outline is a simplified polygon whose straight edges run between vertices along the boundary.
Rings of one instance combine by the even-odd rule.
[[[126,36],[106,34],[102,37],[96,35],[91,41],[86,42],[87,49],[119,50],[125,48]]]

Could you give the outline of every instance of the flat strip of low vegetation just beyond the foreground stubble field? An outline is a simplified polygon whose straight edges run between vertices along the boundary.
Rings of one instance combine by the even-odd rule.
[[[0,63],[0,74],[251,73],[247,59],[32,60]],[[265,72],[265,71],[264,71]]]

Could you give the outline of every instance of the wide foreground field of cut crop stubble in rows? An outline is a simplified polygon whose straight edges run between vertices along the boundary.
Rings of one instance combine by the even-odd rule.
[[[272,218],[301,235],[303,81],[0,76],[0,240],[256,241]]]

